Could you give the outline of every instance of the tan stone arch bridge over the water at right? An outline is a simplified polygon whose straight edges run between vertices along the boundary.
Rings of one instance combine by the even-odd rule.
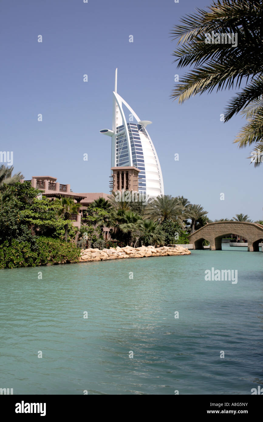
[[[258,244],[263,240],[263,225],[241,221],[220,221],[208,223],[201,229],[188,236],[189,243],[193,243],[193,249],[203,249],[203,240],[210,243],[210,250],[222,250],[222,238],[227,235],[239,235],[247,239],[249,252],[258,252]]]

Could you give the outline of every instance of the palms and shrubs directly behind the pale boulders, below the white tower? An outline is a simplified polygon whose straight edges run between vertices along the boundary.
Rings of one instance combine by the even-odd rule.
[[[91,204],[82,219],[79,246],[103,249],[103,227],[111,227],[115,246],[186,244],[189,233],[206,224],[207,211],[183,196],[162,195],[147,204],[123,198],[116,201],[112,194]]]

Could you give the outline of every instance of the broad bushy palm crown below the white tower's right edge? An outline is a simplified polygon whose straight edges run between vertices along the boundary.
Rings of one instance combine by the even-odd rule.
[[[183,225],[184,208],[178,198],[171,195],[160,195],[153,198],[145,208],[144,218],[160,223],[164,220],[177,221]]]

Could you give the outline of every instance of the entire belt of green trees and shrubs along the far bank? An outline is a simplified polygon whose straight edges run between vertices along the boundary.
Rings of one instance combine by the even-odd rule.
[[[83,211],[78,230],[70,218],[81,204],[67,197],[49,200],[30,181],[17,181],[21,173],[11,173],[1,166],[0,268],[78,262],[87,247],[187,244],[190,233],[211,222],[201,205],[183,196],[162,195],[143,203],[116,201],[113,193]],[[220,221],[251,222],[244,214]],[[104,230],[110,239],[105,240]]]

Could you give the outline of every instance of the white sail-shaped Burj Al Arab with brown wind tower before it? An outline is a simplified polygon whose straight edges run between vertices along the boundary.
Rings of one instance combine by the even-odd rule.
[[[125,106],[130,112],[125,118]],[[151,124],[141,120],[126,101],[117,94],[117,69],[113,92],[112,130],[100,133],[111,136],[111,190],[142,192],[149,197],[164,194],[163,176],[155,147],[146,130]]]

